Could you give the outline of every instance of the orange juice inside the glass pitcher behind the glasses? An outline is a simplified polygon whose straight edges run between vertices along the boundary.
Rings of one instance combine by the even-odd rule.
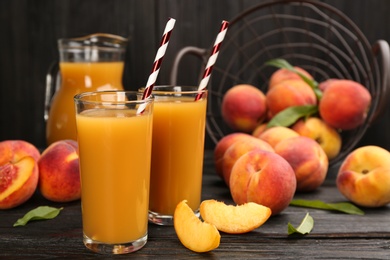
[[[61,62],[61,87],[54,95],[46,125],[47,144],[76,140],[73,97],[96,90],[122,90],[123,62]]]

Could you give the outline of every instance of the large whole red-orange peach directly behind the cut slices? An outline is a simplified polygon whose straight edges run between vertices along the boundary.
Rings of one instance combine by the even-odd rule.
[[[260,149],[241,156],[230,175],[230,193],[236,204],[255,202],[279,214],[290,204],[296,189],[290,164],[280,155]]]

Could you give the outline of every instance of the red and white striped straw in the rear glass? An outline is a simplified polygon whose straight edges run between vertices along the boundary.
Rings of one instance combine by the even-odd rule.
[[[213,70],[214,64],[217,61],[218,54],[219,54],[219,49],[221,48],[221,44],[223,39],[225,38],[227,29],[229,27],[229,22],[227,21],[222,21],[221,29],[219,30],[219,33],[217,35],[217,38],[215,39],[215,43],[213,46],[213,49],[211,51],[210,57],[207,61],[206,68],[204,70],[202,80],[200,81],[198,91],[202,91],[206,89],[207,84],[210,79],[211,71]],[[202,97],[202,94],[199,93],[195,100],[199,100]]]

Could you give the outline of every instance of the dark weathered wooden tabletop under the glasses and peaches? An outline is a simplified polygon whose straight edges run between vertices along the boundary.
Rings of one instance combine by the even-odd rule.
[[[345,201],[332,179],[318,191],[296,198]],[[233,203],[215,174],[212,151],[205,155],[203,199]],[[27,211],[42,205],[64,209],[55,219],[13,227]],[[250,233],[222,233],[219,248],[203,254],[182,246],[173,227],[150,224],[148,243],[140,251],[104,256],[83,245],[79,201],[52,203],[37,193],[20,207],[0,211],[0,259],[390,259],[390,206],[363,210],[365,215],[358,216],[290,206]],[[288,222],[297,227],[307,212],[314,218],[312,232],[288,237]]]

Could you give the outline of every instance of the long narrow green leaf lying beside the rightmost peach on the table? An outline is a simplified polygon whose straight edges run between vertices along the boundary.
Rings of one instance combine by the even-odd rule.
[[[364,215],[364,211],[349,202],[325,203],[320,200],[294,199],[290,202],[290,205],[306,208],[333,210],[352,215]]]

